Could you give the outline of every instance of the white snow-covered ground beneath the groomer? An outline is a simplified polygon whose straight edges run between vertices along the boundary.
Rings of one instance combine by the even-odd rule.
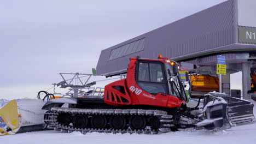
[[[256,105],[255,101],[253,101]],[[254,107],[254,112],[256,107]],[[255,115],[255,113],[254,113]],[[139,134],[105,134],[90,133],[81,134],[79,132],[60,133],[59,131],[37,131],[16,135],[0,136],[1,143],[255,143],[256,123],[232,127],[228,130],[186,130],[176,131],[159,135],[139,135]]]

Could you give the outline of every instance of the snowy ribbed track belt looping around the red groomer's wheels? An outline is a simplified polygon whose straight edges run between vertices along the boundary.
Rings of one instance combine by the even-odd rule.
[[[159,118],[160,127],[158,130],[145,128],[140,130],[127,129],[95,129],[95,128],[75,128],[72,125],[63,125],[57,122],[57,117],[60,113],[69,113],[71,115],[80,114],[80,115],[141,115],[141,116],[156,116]],[[137,110],[137,109],[72,109],[66,107],[53,107],[51,111],[48,111],[44,115],[44,122],[50,127],[54,127],[57,131],[62,131],[63,133],[71,133],[72,131],[81,131],[81,133],[91,133],[91,132],[100,132],[100,133],[130,133],[130,134],[158,134],[167,133],[171,131],[171,127],[174,127],[172,124],[172,115],[167,115],[166,111],[160,110]]]

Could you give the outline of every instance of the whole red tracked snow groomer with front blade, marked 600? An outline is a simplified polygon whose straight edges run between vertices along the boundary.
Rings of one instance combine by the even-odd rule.
[[[66,132],[156,134],[181,128],[226,129],[255,119],[253,104],[224,94],[206,94],[195,107],[188,107],[188,101],[177,62],[136,57],[130,58],[126,79],[106,85],[103,97],[49,100],[43,106],[49,110],[44,122]]]

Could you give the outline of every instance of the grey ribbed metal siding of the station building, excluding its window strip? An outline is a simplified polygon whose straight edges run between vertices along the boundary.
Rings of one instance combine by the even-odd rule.
[[[178,59],[197,55],[200,51],[208,52],[216,47],[234,44],[233,20],[234,2],[230,0],[109,47],[101,52],[97,75],[126,69],[130,57],[156,58],[161,54],[164,57]],[[108,60],[111,50],[141,38],[146,38],[143,51]]]

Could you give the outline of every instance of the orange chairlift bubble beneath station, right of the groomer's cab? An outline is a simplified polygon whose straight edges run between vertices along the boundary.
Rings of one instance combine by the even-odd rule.
[[[219,79],[209,75],[190,75],[192,91],[219,91]]]

